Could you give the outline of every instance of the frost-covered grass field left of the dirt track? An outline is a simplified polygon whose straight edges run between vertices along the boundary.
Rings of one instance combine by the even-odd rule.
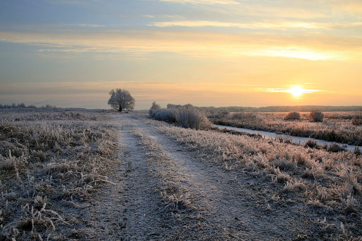
[[[0,237],[47,240],[69,228],[72,209],[109,182],[117,132],[100,111],[0,112]]]

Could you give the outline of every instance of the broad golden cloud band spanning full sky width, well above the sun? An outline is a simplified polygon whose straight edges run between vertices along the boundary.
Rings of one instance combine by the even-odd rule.
[[[42,54],[68,53],[68,57],[71,53],[90,52],[117,53],[143,59],[156,52],[172,52],[195,58],[271,56],[345,60],[361,57],[362,52],[361,38],[328,35],[284,36],[136,30],[64,33],[3,31],[0,32],[0,41],[38,46],[38,52]]]

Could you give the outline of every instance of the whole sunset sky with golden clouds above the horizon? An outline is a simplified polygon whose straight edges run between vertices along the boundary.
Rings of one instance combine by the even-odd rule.
[[[0,1],[0,103],[362,105],[361,0]]]

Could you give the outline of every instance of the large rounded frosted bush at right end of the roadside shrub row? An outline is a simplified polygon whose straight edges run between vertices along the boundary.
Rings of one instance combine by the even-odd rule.
[[[211,122],[207,119],[205,114],[195,107],[181,107],[175,112],[175,119],[178,125],[183,128],[191,129],[210,129]]]

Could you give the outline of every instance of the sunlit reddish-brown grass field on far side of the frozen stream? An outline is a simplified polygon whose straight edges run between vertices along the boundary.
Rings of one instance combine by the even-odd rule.
[[[300,120],[284,120],[286,114],[286,112],[259,112],[245,113],[240,118],[232,118],[230,115],[208,117],[218,125],[362,145],[362,126],[352,124],[353,117],[357,115],[355,112],[324,112],[323,122],[309,120],[309,112],[301,112]]]

